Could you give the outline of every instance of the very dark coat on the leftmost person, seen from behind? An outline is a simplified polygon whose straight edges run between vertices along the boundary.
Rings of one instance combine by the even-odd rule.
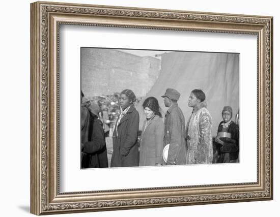
[[[83,143],[82,168],[108,167],[107,148],[102,122],[96,116],[90,117],[89,141]]]

